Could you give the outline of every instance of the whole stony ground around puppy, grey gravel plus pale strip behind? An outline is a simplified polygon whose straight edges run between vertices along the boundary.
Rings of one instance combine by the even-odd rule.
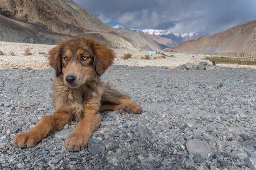
[[[32,55],[24,56],[24,44],[7,48],[5,43],[0,43],[5,54],[0,56],[0,169],[256,167],[256,70],[239,65],[187,70],[182,64],[205,61],[204,56],[191,59],[192,54],[146,60],[141,56],[147,52],[137,52],[122,60],[127,52],[116,51],[114,65],[102,78],[141,104],[142,114],[102,113],[101,126],[80,152],[63,147],[76,122],[53,131],[34,148],[15,148],[16,134],[54,113],[55,74],[47,66],[47,54],[39,54],[52,46],[45,51],[44,45],[33,46]]]

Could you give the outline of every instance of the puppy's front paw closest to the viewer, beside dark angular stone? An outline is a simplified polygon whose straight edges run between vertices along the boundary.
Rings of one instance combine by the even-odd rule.
[[[79,134],[71,134],[66,139],[64,146],[69,152],[79,152],[88,144],[88,138],[82,137]]]

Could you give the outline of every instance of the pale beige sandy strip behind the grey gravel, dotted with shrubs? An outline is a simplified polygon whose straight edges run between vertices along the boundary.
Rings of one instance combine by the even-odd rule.
[[[30,67],[32,69],[47,69],[48,65],[48,51],[53,48],[54,45],[44,44],[26,44],[18,42],[0,42],[0,68],[23,68]],[[29,52],[26,50],[29,49]],[[198,64],[206,61],[208,64],[212,64],[208,60],[205,60],[207,56],[200,54],[186,54],[186,53],[164,53],[162,54],[149,54],[150,59],[142,59],[145,55],[148,55],[147,51],[140,50],[126,50],[126,49],[113,49],[116,58],[114,65],[128,65],[128,66],[167,66],[170,68],[177,67],[187,62]],[[31,53],[31,54],[30,54]],[[122,59],[124,54],[130,53],[133,56],[129,59]],[[170,57],[174,55],[175,57]],[[196,59],[192,59],[192,56]],[[220,66],[228,67],[247,67],[256,68],[255,66],[244,65],[226,65]]]

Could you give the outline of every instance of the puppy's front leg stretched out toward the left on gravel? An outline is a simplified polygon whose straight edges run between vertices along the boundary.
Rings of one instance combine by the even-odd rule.
[[[34,128],[25,133],[16,135],[13,144],[20,148],[34,147],[36,143],[45,138],[50,131],[59,129],[65,124],[70,124],[71,119],[71,114],[66,112],[57,112],[49,116],[44,116]]]

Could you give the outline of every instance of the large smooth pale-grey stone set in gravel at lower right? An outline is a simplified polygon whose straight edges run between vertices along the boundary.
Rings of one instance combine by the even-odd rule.
[[[205,142],[200,141],[199,139],[189,139],[185,146],[189,152],[197,152],[206,158],[208,154],[212,152],[212,148],[210,148]]]

